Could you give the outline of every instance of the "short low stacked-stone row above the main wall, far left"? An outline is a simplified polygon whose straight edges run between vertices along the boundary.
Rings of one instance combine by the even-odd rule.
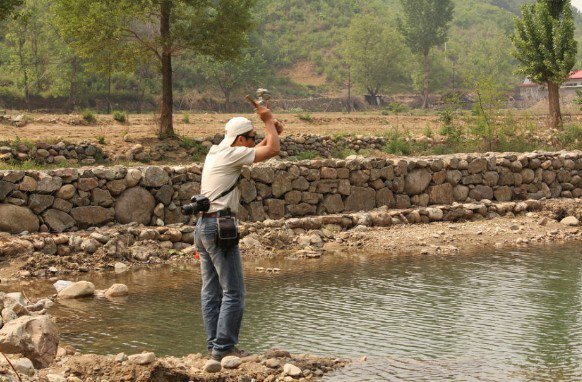
[[[91,143],[71,145],[59,142],[51,145],[39,142],[32,147],[24,143],[18,144],[16,147],[0,147],[0,160],[5,162],[33,160],[39,164],[68,162],[71,164],[91,165],[97,159],[105,159],[105,157],[101,148]]]

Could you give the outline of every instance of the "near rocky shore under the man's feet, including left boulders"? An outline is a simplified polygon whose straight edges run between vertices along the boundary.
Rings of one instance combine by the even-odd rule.
[[[81,284],[88,282],[79,282]],[[115,285],[114,285],[115,286]],[[69,296],[62,289],[58,298]],[[5,382],[105,381],[311,381],[349,363],[348,360],[291,355],[272,349],[261,355],[225,357],[202,354],[158,358],[152,352],[126,355],[80,354],[60,343],[58,328],[47,315],[55,298],[30,301],[23,293],[0,293],[0,380]]]

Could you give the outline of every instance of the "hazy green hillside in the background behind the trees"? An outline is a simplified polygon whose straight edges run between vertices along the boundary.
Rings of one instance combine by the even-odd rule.
[[[453,1],[448,42],[431,54],[431,92],[462,89],[481,74],[506,88],[520,82],[513,74],[516,62],[509,36],[525,1]],[[59,34],[56,2],[25,0],[18,12],[26,17],[0,22],[0,109],[155,108],[161,89],[155,60],[149,57],[133,67],[114,60],[111,72],[102,66],[95,70],[91,58],[76,52]],[[233,107],[245,107],[240,95],[257,86],[286,98],[337,96],[348,82],[348,30],[372,20],[398,34],[399,13],[400,0],[257,0],[256,29],[240,61],[224,65],[188,51],[174,58],[176,107],[227,110],[229,98],[240,102]],[[582,41],[579,13],[576,24]],[[405,64],[408,78],[383,90],[385,94],[418,92],[419,60],[410,54],[403,57],[405,62],[386,60],[386,65]],[[578,57],[582,63],[582,48]],[[353,91],[362,95],[365,89],[356,81]]]

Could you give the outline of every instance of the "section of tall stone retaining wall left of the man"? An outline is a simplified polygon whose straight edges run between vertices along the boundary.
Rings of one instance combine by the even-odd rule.
[[[200,190],[200,166],[0,173],[0,231],[64,232],[112,222],[183,223],[178,206]]]

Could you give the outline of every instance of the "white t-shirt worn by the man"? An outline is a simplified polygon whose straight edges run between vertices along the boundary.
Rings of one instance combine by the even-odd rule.
[[[250,166],[254,161],[254,149],[242,146],[225,148],[212,146],[204,162],[200,193],[213,200],[237,181],[243,166]],[[235,188],[229,194],[213,201],[208,212],[230,207],[230,210],[236,214],[239,201],[240,192],[238,188]]]

